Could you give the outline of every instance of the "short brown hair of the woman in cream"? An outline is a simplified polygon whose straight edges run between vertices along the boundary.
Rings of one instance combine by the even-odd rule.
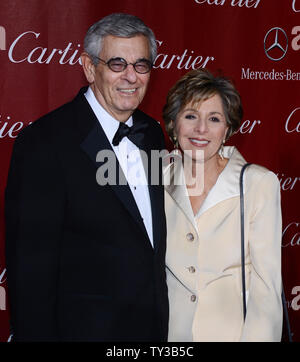
[[[206,69],[192,70],[170,89],[163,108],[166,131],[174,142],[174,123],[178,113],[190,102],[198,103],[218,94],[223,103],[228,131],[226,140],[235,133],[243,118],[241,98],[233,83],[223,76],[214,76]],[[172,122],[174,121],[174,122]]]

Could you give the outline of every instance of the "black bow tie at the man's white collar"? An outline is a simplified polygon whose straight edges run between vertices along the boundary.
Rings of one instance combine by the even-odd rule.
[[[127,137],[138,148],[144,148],[145,130],[147,127],[148,122],[135,122],[132,127],[128,127],[127,124],[120,122],[119,128],[114,135],[112,144],[117,146],[123,137]]]

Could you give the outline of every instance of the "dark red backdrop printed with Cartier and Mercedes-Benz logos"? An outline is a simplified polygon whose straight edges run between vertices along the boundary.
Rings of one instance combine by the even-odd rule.
[[[280,180],[283,280],[300,341],[300,0],[0,2],[0,340],[10,336],[3,206],[14,140],[86,84],[84,35],[112,12],[135,14],[155,32],[158,56],[141,108],[162,127],[167,91],[191,69],[220,71],[240,91],[245,115],[229,144]]]

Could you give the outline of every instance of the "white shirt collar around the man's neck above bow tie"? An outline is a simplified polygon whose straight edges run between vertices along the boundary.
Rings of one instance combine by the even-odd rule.
[[[109,142],[112,144],[112,140],[114,138],[117,129],[119,128],[120,122],[113,118],[98,102],[97,98],[95,97],[94,92],[92,91],[91,87],[88,87],[87,92],[84,94],[86,100],[89,102],[92,110],[94,111],[101,127],[104,130],[106,137],[108,138]],[[131,127],[133,124],[132,116],[125,122],[127,126]]]

